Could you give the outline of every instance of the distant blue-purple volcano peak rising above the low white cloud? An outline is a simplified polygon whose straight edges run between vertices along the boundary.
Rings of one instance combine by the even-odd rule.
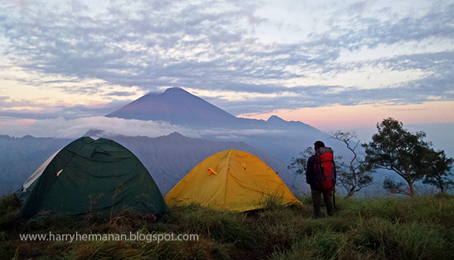
[[[163,93],[143,95],[106,116],[143,121],[166,121],[173,125],[191,128],[312,128],[305,123],[288,122],[278,116],[271,116],[268,121],[237,118],[210,102],[177,87],[166,89]]]

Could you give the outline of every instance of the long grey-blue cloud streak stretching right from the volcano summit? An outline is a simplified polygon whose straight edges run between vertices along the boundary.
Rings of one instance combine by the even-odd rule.
[[[342,86],[307,86],[286,90],[292,95],[284,95],[284,91],[272,98],[254,98],[247,100],[223,100],[205,98],[217,107],[230,114],[252,114],[256,112],[270,113],[279,109],[298,109],[300,107],[323,107],[329,105],[407,105],[420,104],[427,101],[454,100],[454,78],[428,77],[406,82],[402,87],[387,86],[377,89],[360,89]]]

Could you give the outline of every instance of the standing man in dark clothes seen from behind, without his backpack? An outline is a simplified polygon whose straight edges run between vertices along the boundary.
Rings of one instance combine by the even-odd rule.
[[[320,148],[325,147],[325,144],[321,141],[317,141],[314,143],[314,150],[317,152],[320,151]],[[330,149],[330,148],[328,148]],[[329,191],[322,191],[320,187],[318,187],[318,180],[316,178],[315,173],[315,162],[317,160],[316,154],[312,155],[307,159],[307,169],[306,169],[306,182],[307,184],[311,185],[311,193],[312,193],[312,205],[314,205],[314,216],[320,217],[320,205],[321,205],[321,195],[323,194],[323,201],[325,201],[326,211],[328,211],[328,215],[332,216],[334,214],[334,209],[332,206],[332,190]],[[332,166],[332,181],[335,181],[335,167],[334,164]],[[333,186],[334,187],[334,186]]]

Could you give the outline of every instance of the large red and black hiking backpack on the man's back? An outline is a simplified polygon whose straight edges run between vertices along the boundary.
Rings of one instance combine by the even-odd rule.
[[[335,190],[336,168],[333,158],[332,149],[329,147],[318,148],[315,153],[315,181],[321,192]]]

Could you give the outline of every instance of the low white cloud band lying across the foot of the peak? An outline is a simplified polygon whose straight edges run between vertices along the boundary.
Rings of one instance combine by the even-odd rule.
[[[171,125],[162,121],[140,121],[136,119],[111,118],[105,116],[80,117],[66,119],[63,117],[41,120],[17,120],[0,116],[0,135],[22,137],[78,138],[89,130],[102,130],[105,136],[126,135],[160,137],[172,132],[180,132],[186,137],[200,138],[203,136],[217,137],[218,139],[242,139],[248,135],[279,134],[280,130],[228,130],[221,128],[207,128],[193,130],[180,125]]]

